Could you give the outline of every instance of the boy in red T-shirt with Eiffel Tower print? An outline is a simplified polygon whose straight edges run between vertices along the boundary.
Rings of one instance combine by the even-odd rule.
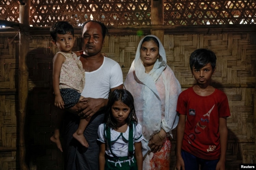
[[[228,99],[210,85],[216,56],[207,49],[197,49],[189,58],[197,83],[184,90],[177,103],[177,170],[225,170],[230,116]]]

